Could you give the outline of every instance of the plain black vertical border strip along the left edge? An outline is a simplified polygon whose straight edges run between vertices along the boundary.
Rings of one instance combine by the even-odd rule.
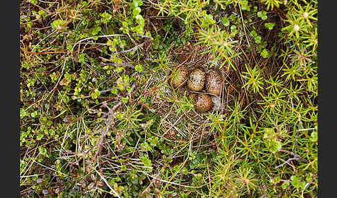
[[[19,1],[3,1],[2,8],[1,197],[19,197]]]

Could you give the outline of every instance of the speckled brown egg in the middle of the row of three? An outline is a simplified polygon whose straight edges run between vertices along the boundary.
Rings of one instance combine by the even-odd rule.
[[[201,91],[204,88],[206,73],[200,68],[193,69],[187,81],[187,87],[191,91]]]

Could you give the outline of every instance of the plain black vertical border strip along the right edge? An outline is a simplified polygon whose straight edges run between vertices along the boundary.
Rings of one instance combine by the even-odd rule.
[[[336,6],[318,1],[318,197],[336,197]],[[325,4],[325,5],[324,5]],[[332,195],[332,196],[331,196]]]

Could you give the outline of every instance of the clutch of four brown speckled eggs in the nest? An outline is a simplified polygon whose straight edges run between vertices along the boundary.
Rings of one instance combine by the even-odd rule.
[[[190,91],[202,91],[205,87],[206,93],[192,93],[193,102],[197,111],[206,112],[211,110],[213,102],[210,94],[220,96],[223,87],[223,78],[214,69],[205,73],[204,69],[197,67],[189,72],[187,66],[177,66],[173,69],[173,77],[170,82],[173,88],[182,87],[187,82]]]

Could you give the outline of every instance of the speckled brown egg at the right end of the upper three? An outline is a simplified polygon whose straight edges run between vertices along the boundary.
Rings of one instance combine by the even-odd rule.
[[[206,91],[208,93],[212,93],[216,96],[219,96],[222,87],[223,87],[223,78],[221,78],[221,75],[214,70],[210,70],[206,76],[206,85],[205,85]]]

